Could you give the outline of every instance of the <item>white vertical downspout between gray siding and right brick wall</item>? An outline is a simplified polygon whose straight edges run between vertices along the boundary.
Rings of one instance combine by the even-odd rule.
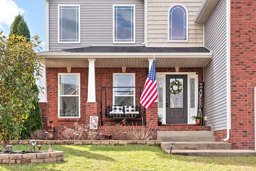
[[[226,62],[227,62],[227,137],[222,139],[221,141],[227,141],[230,138],[230,129],[231,129],[231,90],[230,90],[230,0],[226,2],[226,10],[227,10],[227,28],[226,28]]]

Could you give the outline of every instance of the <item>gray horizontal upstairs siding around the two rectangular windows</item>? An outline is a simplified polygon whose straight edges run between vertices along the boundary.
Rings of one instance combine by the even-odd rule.
[[[80,44],[58,44],[58,4],[80,4]],[[113,4],[135,4],[136,43],[113,44]],[[87,46],[141,46],[144,42],[144,0],[49,0],[49,50]]]

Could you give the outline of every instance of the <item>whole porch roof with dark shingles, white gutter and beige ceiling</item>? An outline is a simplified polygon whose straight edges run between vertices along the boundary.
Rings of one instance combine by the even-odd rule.
[[[88,59],[95,59],[95,67],[148,67],[148,59],[155,56],[156,67],[204,67],[212,59],[212,52],[204,47],[146,48],[143,46],[90,46],[40,52],[46,67],[88,68]]]

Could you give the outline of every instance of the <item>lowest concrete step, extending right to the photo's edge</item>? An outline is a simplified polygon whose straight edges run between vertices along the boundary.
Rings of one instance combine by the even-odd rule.
[[[170,149],[164,149],[165,153],[170,153]],[[256,156],[254,150],[236,150],[236,149],[172,149],[172,155],[192,155],[201,157],[242,157]]]

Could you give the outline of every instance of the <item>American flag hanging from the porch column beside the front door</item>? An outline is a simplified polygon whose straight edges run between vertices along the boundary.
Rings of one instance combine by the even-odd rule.
[[[157,97],[156,66],[154,59],[148,73],[148,78],[145,82],[142,95],[140,96],[140,103],[146,107],[146,109],[149,109],[156,101]]]

